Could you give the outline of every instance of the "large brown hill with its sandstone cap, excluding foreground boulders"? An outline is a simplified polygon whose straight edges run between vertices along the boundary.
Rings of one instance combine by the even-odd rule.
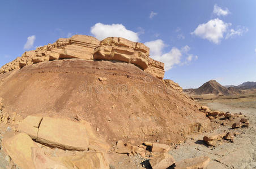
[[[7,112],[23,117],[78,115],[108,143],[173,142],[207,130],[197,103],[163,77],[164,64],[151,59],[142,43],[74,35],[4,65],[0,96]]]

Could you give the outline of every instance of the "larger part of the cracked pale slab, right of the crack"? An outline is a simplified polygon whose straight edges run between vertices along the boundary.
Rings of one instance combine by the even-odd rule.
[[[68,150],[86,150],[89,144],[83,123],[49,117],[42,119],[36,140],[41,144]]]

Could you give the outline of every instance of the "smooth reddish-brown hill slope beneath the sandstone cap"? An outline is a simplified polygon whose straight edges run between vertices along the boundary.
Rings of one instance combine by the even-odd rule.
[[[0,97],[6,112],[23,117],[79,116],[109,144],[130,139],[169,144],[210,129],[197,103],[128,63],[64,59],[27,65],[0,74]],[[35,121],[31,126],[40,118]]]

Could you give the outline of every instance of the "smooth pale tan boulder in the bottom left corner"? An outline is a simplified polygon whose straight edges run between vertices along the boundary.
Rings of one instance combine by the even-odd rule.
[[[31,158],[31,148],[37,145],[27,134],[20,133],[3,141],[3,149],[20,168],[36,168]]]

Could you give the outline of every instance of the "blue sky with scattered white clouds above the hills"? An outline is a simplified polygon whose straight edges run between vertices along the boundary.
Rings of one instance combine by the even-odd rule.
[[[183,88],[256,81],[255,8],[237,0],[1,1],[0,66],[73,34],[122,36],[146,43],[165,78]]]

